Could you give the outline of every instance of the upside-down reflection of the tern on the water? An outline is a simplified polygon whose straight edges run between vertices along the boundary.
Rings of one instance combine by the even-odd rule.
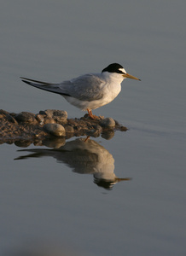
[[[56,143],[59,143],[57,141]],[[113,155],[94,140],[78,138],[58,148],[59,144],[52,142],[55,148],[45,149],[23,149],[19,151],[27,151],[32,154],[20,156],[15,160],[23,160],[30,157],[52,156],[58,162],[65,163],[73,169],[73,172],[89,173],[94,176],[94,183],[104,189],[112,189],[115,183],[130,180],[131,178],[119,178],[114,174]]]

